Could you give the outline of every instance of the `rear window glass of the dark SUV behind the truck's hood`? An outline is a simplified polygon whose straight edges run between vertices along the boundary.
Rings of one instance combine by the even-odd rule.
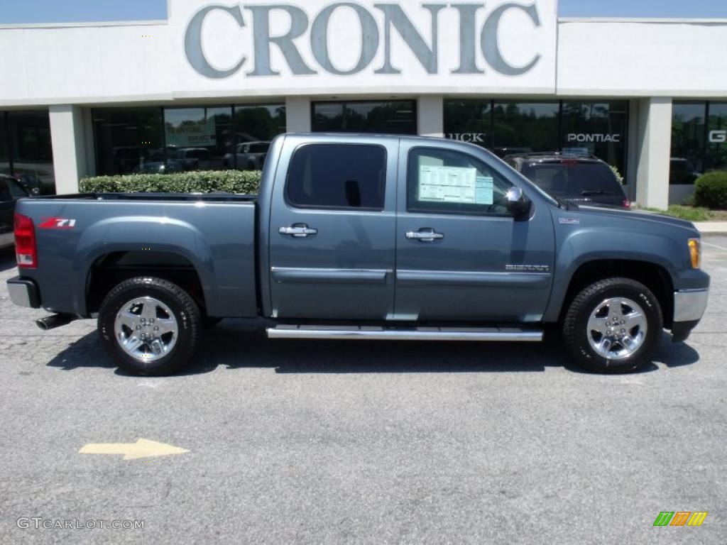
[[[523,174],[558,197],[623,195],[616,175],[603,163],[531,163],[523,165]]]

